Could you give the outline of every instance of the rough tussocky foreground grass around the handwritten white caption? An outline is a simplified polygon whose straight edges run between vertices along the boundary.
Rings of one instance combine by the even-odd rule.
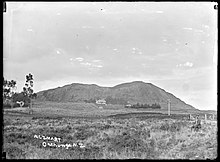
[[[181,119],[10,117],[4,119],[3,151],[8,159],[215,159],[216,122],[198,132],[190,126]],[[84,147],[44,147],[43,142],[81,142]]]

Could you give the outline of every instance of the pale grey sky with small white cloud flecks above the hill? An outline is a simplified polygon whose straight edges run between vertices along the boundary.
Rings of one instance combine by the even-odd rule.
[[[215,2],[7,2],[3,75],[34,91],[144,81],[217,110]]]

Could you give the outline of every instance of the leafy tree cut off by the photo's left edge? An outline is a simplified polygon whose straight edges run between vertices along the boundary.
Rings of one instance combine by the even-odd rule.
[[[16,90],[16,81],[7,81],[3,77],[3,102],[8,103],[10,101],[11,108],[13,108],[13,95]]]

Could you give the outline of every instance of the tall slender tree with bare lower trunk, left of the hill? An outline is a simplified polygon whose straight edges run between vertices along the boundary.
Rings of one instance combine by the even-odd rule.
[[[34,93],[33,86],[34,86],[33,75],[29,73],[28,75],[26,75],[26,83],[25,86],[23,87],[23,94],[24,96],[27,96],[29,98],[30,101],[29,108],[31,111],[32,111],[32,99],[37,97],[37,94]]]

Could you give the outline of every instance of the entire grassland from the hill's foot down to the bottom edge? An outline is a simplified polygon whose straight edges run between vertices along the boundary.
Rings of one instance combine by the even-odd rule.
[[[216,121],[202,121],[196,132],[184,113],[53,102],[35,103],[33,110],[5,110],[3,150],[8,159],[217,157]]]

